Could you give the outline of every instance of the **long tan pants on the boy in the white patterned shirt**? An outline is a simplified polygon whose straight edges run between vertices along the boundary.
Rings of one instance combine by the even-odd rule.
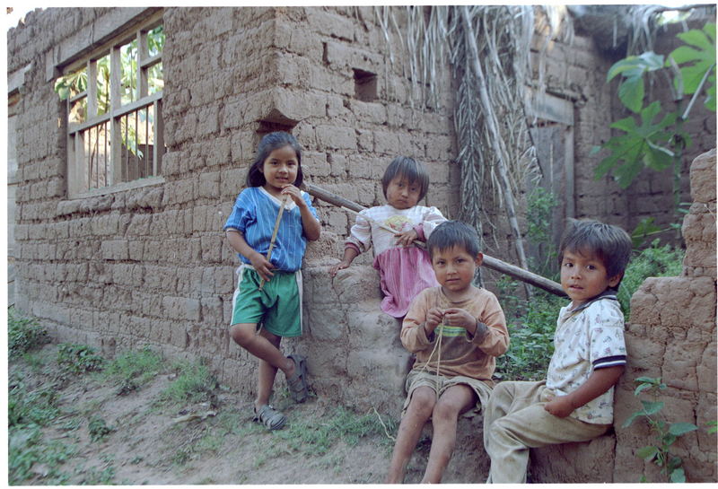
[[[530,448],[588,441],[609,429],[610,424],[551,415],[544,409],[546,391],[545,380],[500,382],[494,388],[484,410],[484,448],[491,457],[487,483],[525,483]]]

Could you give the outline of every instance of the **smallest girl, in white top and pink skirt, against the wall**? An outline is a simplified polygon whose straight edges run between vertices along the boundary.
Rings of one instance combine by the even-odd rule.
[[[374,268],[379,270],[384,294],[381,310],[401,319],[417,293],[439,285],[429,254],[412,243],[426,240],[446,218],[436,207],[416,205],[429,188],[429,174],[413,158],[395,158],[384,171],[381,186],[387,204],[363,209],[356,216],[344,258],[329,269],[329,275],[337,275],[373,245]]]

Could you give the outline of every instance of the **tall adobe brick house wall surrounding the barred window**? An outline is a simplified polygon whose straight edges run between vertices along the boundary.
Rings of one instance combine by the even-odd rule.
[[[28,66],[17,122],[18,307],[57,341],[203,357],[249,393],[255,360],[227,334],[238,260],[221,230],[259,133],[292,128],[311,180],[363,205],[383,202],[379,177],[392,158],[414,156],[432,174],[427,202],[451,214],[451,90],[443,109],[412,109],[369,7],[167,8],[165,182],[67,199],[56,68],[144,13],[49,8],[9,34],[8,72]],[[354,69],[377,74],[377,100],[356,98]],[[308,260],[339,257],[353,217],[316,206],[325,239]]]

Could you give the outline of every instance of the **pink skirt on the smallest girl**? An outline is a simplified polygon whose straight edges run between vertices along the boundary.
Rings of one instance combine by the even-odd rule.
[[[387,249],[374,258],[374,268],[381,276],[381,310],[402,319],[407,315],[409,304],[427,287],[439,285],[433,275],[429,253],[424,249],[408,248]]]

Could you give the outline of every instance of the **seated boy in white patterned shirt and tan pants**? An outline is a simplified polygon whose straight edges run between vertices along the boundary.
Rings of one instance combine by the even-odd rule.
[[[529,449],[589,441],[613,424],[613,390],[626,365],[616,293],[631,255],[616,226],[571,220],[559,247],[561,287],[547,379],[501,382],[484,413],[489,483],[525,483]]]

